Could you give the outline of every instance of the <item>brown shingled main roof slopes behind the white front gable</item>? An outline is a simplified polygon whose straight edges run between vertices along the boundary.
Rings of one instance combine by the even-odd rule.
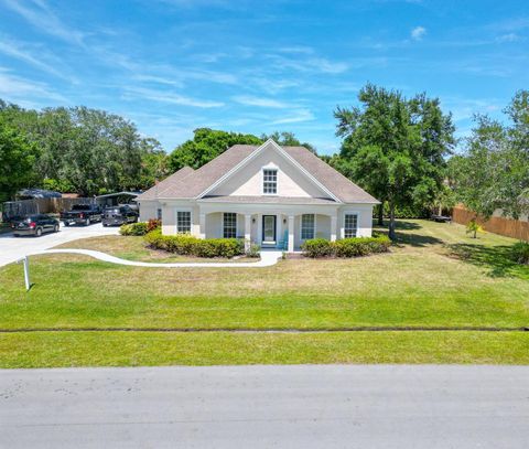
[[[206,197],[207,191],[216,183],[223,180],[228,172],[234,171],[238,165],[242,164],[258,149],[267,146],[269,141],[262,146],[235,145],[224,153],[213,159],[205,165],[193,171],[191,168],[183,168],[158,184],[159,199],[197,199]],[[279,147],[287,156],[299,164],[307,177],[321,184],[324,190],[330,192],[330,196],[334,196],[343,203],[378,203],[378,201],[369,195],[366,191],[349,181],[343,174],[338,173],[331,165],[322,161],[317,156],[309,151],[304,147]],[[176,177],[183,170],[188,169],[185,177]],[[173,178],[174,177],[174,178]],[[163,183],[163,185],[162,185]],[[155,188],[155,186],[154,186]],[[143,195],[150,193],[154,188],[148,190]],[[150,195],[156,192],[150,193]],[[142,199],[155,199],[156,196]]]

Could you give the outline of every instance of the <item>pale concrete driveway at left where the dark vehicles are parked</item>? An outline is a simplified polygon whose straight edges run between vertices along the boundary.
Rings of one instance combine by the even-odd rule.
[[[30,253],[50,249],[63,243],[99,235],[116,235],[119,227],[104,227],[100,223],[89,226],[68,226],[61,223],[58,233],[43,234],[42,237],[14,237],[11,233],[0,235],[0,267],[11,264]]]

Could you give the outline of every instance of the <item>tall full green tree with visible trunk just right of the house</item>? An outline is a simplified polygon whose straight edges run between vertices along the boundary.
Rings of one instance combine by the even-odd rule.
[[[332,162],[388,202],[389,235],[395,238],[396,207],[432,204],[442,188],[454,126],[439,99],[424,94],[407,99],[400,92],[368,84],[358,100],[361,107],[335,110],[336,133],[344,140]]]

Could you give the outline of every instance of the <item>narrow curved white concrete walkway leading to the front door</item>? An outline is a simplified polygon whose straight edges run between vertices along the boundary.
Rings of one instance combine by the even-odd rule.
[[[37,256],[46,254],[80,254],[83,256],[94,257],[95,259],[108,261],[110,264],[127,265],[131,267],[147,267],[147,268],[263,268],[271,267],[281,258],[282,252],[264,250],[261,252],[261,259],[259,261],[212,261],[212,263],[152,263],[152,261],[137,261],[121,259],[106,253],[96,252],[93,249],[44,249],[35,253],[29,253],[26,256]]]

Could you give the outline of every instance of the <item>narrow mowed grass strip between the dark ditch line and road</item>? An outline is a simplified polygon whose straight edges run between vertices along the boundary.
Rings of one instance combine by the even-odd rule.
[[[0,334],[0,367],[529,364],[528,349],[522,332],[25,332]]]

